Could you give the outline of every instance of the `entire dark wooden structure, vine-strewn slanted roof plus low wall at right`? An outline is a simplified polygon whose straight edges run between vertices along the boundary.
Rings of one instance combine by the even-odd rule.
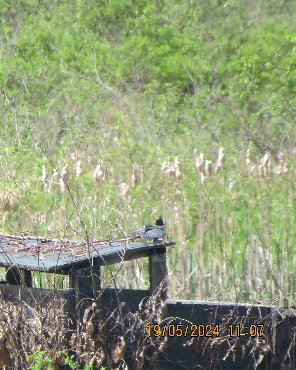
[[[171,329],[166,328],[166,346],[157,360],[152,361],[154,370],[296,368],[294,309],[256,303],[246,305],[166,299],[166,247],[174,244],[129,243],[124,239],[87,243],[26,235],[0,237],[0,266],[7,269],[6,280],[0,281],[1,297],[14,304],[21,300],[34,309],[36,305],[50,305],[53,297],[56,299],[58,296],[64,302],[68,327],[79,331],[78,323],[85,309],[100,294],[101,266],[149,256],[149,290],[105,289],[100,294],[100,302],[106,317],[117,310],[120,302],[125,303],[122,306],[123,315],[137,313],[139,304],[161,287],[158,299],[165,301],[161,330],[166,323]],[[32,287],[32,271],[68,275],[70,289]],[[208,325],[212,326],[212,331],[206,337]],[[213,333],[216,325],[219,336]],[[240,336],[237,335],[237,325],[240,325]],[[260,325],[263,325],[262,336],[253,336],[251,330],[259,330]],[[128,320],[124,326],[128,327]],[[230,326],[233,335],[230,334]],[[177,335],[177,328],[181,329],[181,336]],[[147,332],[138,334],[140,337],[147,336]],[[126,354],[128,359],[128,351]],[[151,369],[151,364],[148,368]]]

